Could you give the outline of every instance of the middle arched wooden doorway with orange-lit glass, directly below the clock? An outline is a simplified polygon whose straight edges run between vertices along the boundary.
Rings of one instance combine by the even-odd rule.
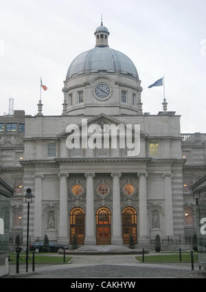
[[[96,213],[97,245],[111,245],[111,212],[100,207]]]

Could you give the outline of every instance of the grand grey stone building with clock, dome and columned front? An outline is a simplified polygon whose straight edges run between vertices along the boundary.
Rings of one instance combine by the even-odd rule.
[[[32,188],[33,241],[47,234],[49,240],[71,244],[76,234],[78,245],[126,245],[132,234],[136,244],[149,244],[157,234],[179,242],[194,233],[189,186],[205,175],[206,135],[181,135],[180,116],[168,111],[165,101],[157,115],[143,113],[137,69],[128,56],[108,46],[108,36],[100,25],[95,48],[69,66],[62,115],[44,116],[39,102],[36,116],[24,117],[25,137],[18,146],[12,139],[23,133],[7,133],[3,122],[1,177],[13,182],[23,177],[19,188]],[[76,124],[82,133],[82,120],[97,124],[102,133],[105,125],[140,125],[139,155],[128,155],[119,136],[117,148],[111,147],[110,137],[108,148],[84,148],[81,139],[80,148],[69,149],[67,126]],[[14,159],[16,150],[22,156],[13,170],[8,157]],[[23,218],[26,238],[27,208],[19,194],[12,199],[11,214]],[[14,216],[16,209],[21,214]]]

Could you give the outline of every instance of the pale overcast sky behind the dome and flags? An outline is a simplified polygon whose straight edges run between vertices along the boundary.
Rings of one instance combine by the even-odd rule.
[[[62,87],[72,60],[95,46],[104,25],[109,46],[137,67],[143,111],[181,115],[181,133],[206,133],[206,0],[0,0],[0,115],[36,115],[40,78],[43,114],[61,115]]]

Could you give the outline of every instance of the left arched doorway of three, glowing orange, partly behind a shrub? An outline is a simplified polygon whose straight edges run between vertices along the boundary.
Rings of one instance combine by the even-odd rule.
[[[75,207],[70,213],[70,244],[73,243],[73,237],[76,235],[77,244],[84,245],[84,210],[81,207]]]

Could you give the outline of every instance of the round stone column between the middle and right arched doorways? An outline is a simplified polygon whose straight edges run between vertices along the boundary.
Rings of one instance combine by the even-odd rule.
[[[122,245],[122,214],[120,203],[120,177],[121,173],[112,173],[113,178],[113,229],[112,229],[112,245]]]

